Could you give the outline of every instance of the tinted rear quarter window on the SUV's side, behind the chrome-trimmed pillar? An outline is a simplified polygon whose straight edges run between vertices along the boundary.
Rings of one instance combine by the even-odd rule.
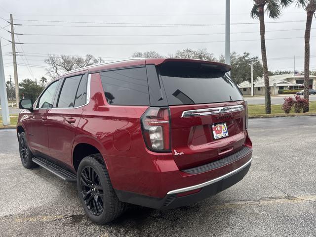
[[[101,72],[100,75],[109,104],[149,105],[145,67]]]

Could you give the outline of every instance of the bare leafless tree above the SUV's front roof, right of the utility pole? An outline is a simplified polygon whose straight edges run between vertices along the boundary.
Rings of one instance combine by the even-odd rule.
[[[46,69],[46,74],[52,78],[59,77],[65,72],[75,70],[81,67],[90,66],[104,62],[100,57],[95,58],[91,54],[80,56],[69,56],[69,55],[48,55],[48,58],[44,60],[50,68]]]

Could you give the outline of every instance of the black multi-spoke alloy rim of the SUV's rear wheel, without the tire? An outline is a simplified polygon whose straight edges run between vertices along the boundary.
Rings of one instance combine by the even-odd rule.
[[[104,206],[103,187],[97,172],[91,166],[85,166],[80,174],[81,195],[88,210],[100,215]]]

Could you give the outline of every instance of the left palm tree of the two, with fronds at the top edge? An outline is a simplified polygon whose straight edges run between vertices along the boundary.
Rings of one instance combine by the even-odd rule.
[[[253,2],[254,4],[251,10],[251,17],[256,19],[259,18],[260,22],[261,56],[265,82],[266,114],[271,114],[271,96],[265,40],[264,12],[266,11],[270,18],[277,19],[281,14],[281,6],[286,7],[289,3],[292,2],[292,0],[253,0]]]

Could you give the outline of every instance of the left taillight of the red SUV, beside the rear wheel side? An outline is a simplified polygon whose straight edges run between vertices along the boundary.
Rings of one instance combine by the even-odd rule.
[[[148,149],[170,152],[170,111],[168,107],[150,107],[141,117],[144,141]]]

